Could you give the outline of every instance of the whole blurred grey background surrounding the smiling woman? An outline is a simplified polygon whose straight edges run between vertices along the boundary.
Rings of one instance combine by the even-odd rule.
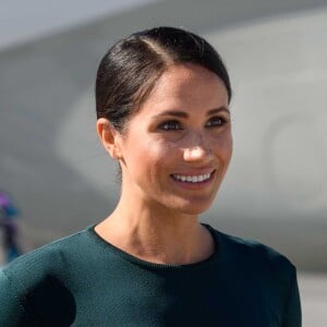
[[[157,25],[204,36],[231,75],[234,155],[203,221],[286,254],[304,326],[326,326],[326,0],[0,0],[0,263],[113,208],[96,70],[112,43]]]

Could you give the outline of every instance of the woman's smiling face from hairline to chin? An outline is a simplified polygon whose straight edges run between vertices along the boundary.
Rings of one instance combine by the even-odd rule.
[[[228,94],[195,64],[171,66],[120,135],[122,187],[150,206],[198,215],[232,154]]]

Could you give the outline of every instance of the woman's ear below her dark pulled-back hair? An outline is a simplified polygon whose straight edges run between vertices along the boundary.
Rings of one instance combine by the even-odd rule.
[[[112,126],[110,121],[106,118],[99,118],[97,120],[98,136],[105,147],[113,159],[121,158],[120,148],[120,133]]]

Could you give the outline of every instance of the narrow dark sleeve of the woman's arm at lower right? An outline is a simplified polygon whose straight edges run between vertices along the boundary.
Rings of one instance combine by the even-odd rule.
[[[288,302],[284,312],[282,327],[301,327],[302,326],[302,313],[301,301],[296,278],[296,270],[293,267],[290,279],[290,291]]]

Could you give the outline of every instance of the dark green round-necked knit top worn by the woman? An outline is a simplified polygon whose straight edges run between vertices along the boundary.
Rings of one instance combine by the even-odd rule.
[[[300,327],[294,266],[253,241],[205,226],[215,253],[153,264],[89,227],[0,270],[0,326]]]

